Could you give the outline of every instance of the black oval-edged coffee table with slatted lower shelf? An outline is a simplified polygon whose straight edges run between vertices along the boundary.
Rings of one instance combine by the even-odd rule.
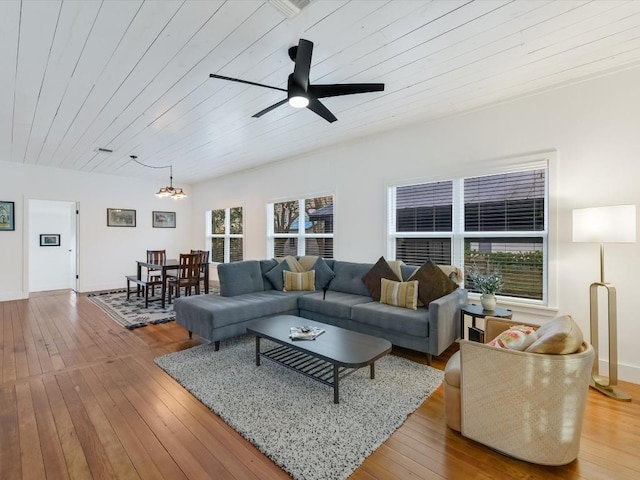
[[[291,340],[289,329],[304,325],[323,328],[325,332],[315,340]],[[375,361],[391,351],[391,342],[383,338],[294,315],[257,320],[247,326],[247,332],[256,336],[256,365],[260,365],[260,357],[265,357],[333,387],[333,403],[339,403],[341,379],[367,365],[371,370],[371,378],[375,378]],[[262,338],[278,346],[261,352]]]

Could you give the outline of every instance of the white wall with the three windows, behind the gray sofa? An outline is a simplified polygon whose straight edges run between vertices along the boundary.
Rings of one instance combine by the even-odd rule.
[[[545,321],[557,312],[568,313],[588,338],[588,293],[589,284],[599,279],[598,246],[572,243],[571,211],[640,204],[637,85],[639,68],[199,184],[193,196],[193,234],[204,236],[201,220],[207,209],[243,205],[245,258],[264,258],[267,203],[334,193],[335,257],[374,262],[386,253],[388,185],[490,173],[501,159],[555,151],[551,174],[557,212],[550,226],[557,238],[551,261],[557,271],[555,308],[538,315],[516,308],[514,318]],[[640,382],[640,322],[634,301],[640,243],[609,245],[606,251],[606,280],[618,289],[620,378]],[[607,357],[603,340],[600,356]]]

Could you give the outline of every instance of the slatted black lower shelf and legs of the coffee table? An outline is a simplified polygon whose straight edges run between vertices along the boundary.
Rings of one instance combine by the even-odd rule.
[[[340,380],[361,368],[340,366],[284,345],[279,345],[261,352],[260,337],[256,337],[256,366],[260,366],[260,357],[268,358],[284,367],[306,375],[317,382],[333,387],[333,403],[339,403]],[[371,378],[373,379],[375,378],[374,364],[371,363],[369,368]]]

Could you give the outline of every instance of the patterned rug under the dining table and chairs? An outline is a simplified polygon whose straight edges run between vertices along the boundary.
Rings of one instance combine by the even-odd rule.
[[[158,300],[151,300],[153,297],[149,297],[148,308],[144,306],[144,297],[136,297],[135,292],[131,292],[131,299],[127,300],[126,290],[89,294],[87,297],[109,318],[129,330],[144,327],[148,324],[166,323],[175,320],[173,304],[166,303],[165,308],[162,308],[159,300],[159,290],[156,291]]]

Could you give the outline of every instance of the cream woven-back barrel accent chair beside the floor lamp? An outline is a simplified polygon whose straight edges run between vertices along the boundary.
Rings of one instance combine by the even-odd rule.
[[[526,324],[487,317],[485,341],[514,325]],[[594,361],[593,347],[582,341],[579,329],[578,334],[577,351],[564,355],[461,340],[460,351],[445,369],[449,427],[527,462],[564,465],[573,461],[580,449]]]

